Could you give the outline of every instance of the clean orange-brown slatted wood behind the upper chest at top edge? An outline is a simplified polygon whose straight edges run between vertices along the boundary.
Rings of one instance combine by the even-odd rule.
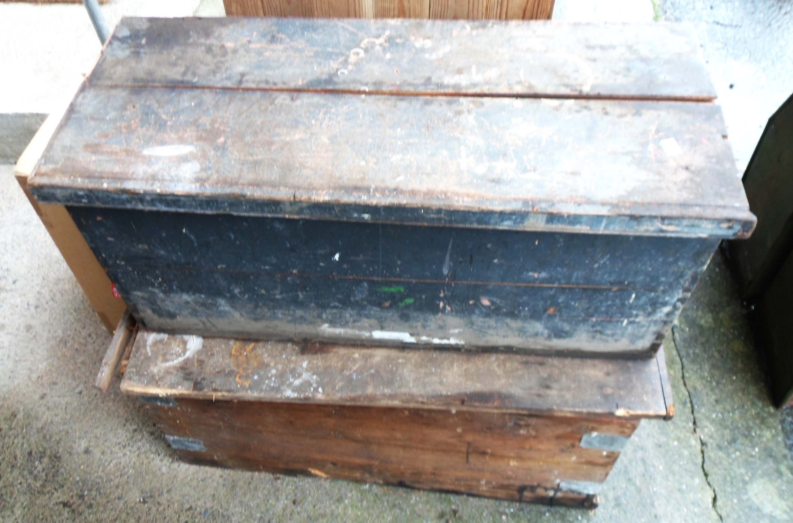
[[[554,0],[224,0],[228,16],[550,19]]]

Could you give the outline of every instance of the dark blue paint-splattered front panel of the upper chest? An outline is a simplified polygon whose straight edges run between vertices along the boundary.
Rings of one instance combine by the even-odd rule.
[[[71,213],[149,329],[623,356],[657,350],[717,241]]]

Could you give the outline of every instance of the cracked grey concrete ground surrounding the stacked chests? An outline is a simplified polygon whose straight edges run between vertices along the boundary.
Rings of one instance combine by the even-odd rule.
[[[4,7],[0,25],[15,26]],[[699,28],[738,173],[793,90],[791,4],[663,0],[638,13]],[[780,413],[718,254],[665,346],[676,417],[642,422],[588,512],[179,463],[136,402],[93,388],[110,336],[10,165],[0,224],[2,521],[793,521]]]

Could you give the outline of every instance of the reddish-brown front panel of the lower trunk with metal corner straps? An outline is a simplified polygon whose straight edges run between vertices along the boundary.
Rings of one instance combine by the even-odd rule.
[[[197,374],[197,382],[201,375]],[[182,460],[594,508],[638,420],[142,398]]]

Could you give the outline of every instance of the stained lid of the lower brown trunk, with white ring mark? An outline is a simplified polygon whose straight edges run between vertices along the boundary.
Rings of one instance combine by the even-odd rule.
[[[665,417],[658,363],[250,342],[141,331],[125,394],[495,413]]]

